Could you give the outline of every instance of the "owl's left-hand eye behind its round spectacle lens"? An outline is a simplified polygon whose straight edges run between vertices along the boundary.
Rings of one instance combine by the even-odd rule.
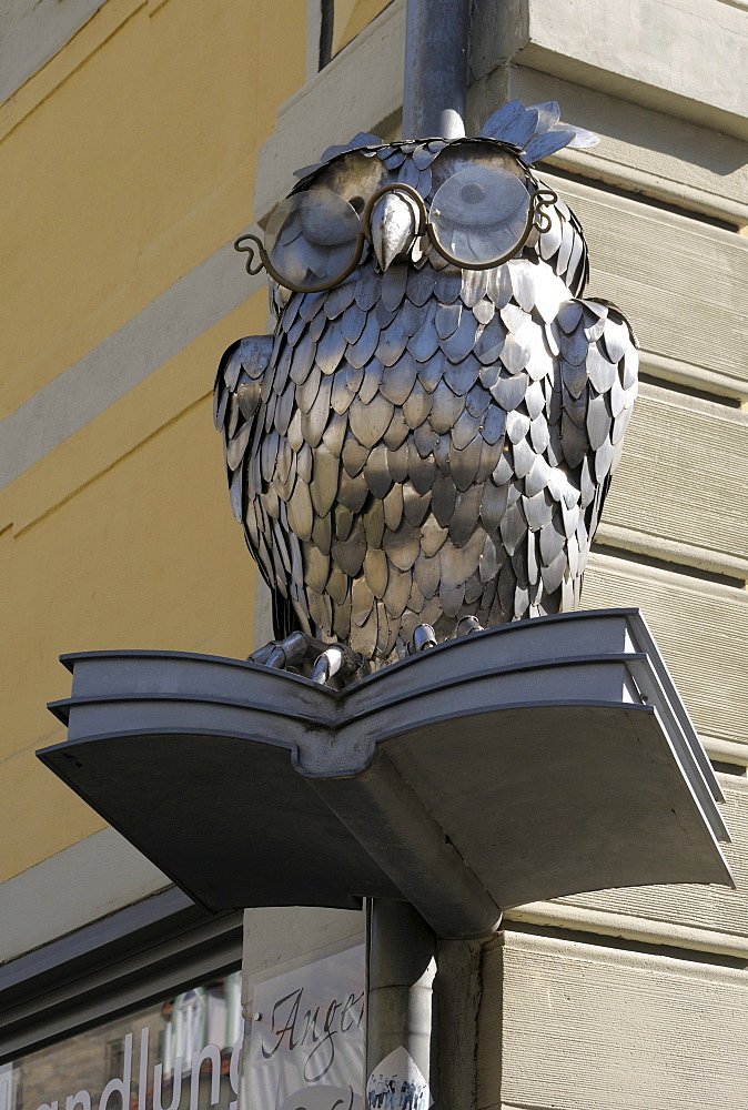
[[[337,193],[296,193],[279,204],[267,222],[269,269],[291,289],[326,287],[355,262],[361,235],[358,213]]]

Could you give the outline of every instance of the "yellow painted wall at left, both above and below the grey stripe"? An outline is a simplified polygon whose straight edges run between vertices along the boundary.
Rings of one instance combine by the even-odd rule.
[[[108,0],[0,108],[0,418],[250,222],[305,33],[303,0]],[[0,881],[102,824],[34,758],[59,654],[252,648],[210,392],[265,320],[257,294],[0,492]]]

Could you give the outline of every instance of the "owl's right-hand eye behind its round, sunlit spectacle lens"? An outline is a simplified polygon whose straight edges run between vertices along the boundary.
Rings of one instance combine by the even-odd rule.
[[[439,186],[428,220],[447,258],[464,266],[497,265],[527,238],[530,195],[516,173],[471,165]]]

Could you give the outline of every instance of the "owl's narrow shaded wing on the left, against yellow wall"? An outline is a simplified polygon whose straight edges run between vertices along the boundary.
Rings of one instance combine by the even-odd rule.
[[[255,463],[259,464],[260,461],[263,401],[270,379],[265,371],[270,365],[272,351],[272,335],[251,335],[232,343],[224,352],[213,387],[213,420],[219,432],[223,432],[231,508],[244,527],[246,545],[270,587],[273,627],[276,636],[282,637],[297,627],[287,601],[285,567],[280,559],[272,557],[272,521],[252,490],[247,488]]]

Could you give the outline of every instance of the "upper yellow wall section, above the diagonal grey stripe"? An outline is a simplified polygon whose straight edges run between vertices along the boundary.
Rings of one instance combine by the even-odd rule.
[[[251,219],[305,6],[109,0],[0,112],[0,418]]]

